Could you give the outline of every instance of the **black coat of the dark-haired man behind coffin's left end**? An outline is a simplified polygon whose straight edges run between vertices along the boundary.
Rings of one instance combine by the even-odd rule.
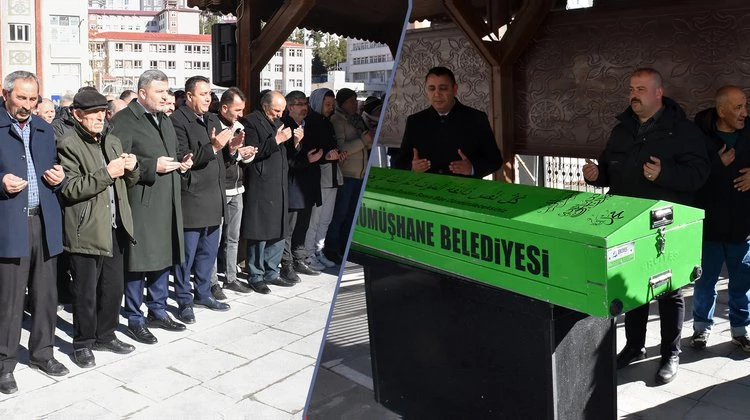
[[[458,149],[474,166],[474,177],[483,178],[503,164],[487,114],[456,99],[448,115],[441,117],[429,107],[406,119],[401,150],[393,160],[397,169],[411,170],[412,149],[430,161],[429,173],[453,175],[448,165],[460,160]]]

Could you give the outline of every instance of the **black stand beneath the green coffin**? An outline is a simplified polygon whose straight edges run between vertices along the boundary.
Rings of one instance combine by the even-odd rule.
[[[352,252],[375,399],[406,419],[615,419],[614,320]]]

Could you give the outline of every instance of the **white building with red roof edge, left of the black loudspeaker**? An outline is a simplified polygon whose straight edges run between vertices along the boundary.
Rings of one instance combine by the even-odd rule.
[[[170,89],[182,89],[192,76],[211,78],[211,35],[103,32],[90,49],[94,86],[105,95],[135,90],[149,69],[163,71]]]

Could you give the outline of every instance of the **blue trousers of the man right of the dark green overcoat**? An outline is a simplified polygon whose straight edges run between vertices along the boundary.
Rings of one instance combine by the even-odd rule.
[[[190,272],[195,271],[195,298],[211,297],[211,274],[219,253],[219,226],[185,229],[185,262],[175,266],[175,300],[180,306],[193,303]]]

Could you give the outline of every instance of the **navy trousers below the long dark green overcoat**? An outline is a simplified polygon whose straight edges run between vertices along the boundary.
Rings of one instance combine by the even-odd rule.
[[[169,297],[169,270],[166,267],[159,271],[128,272],[125,274],[125,308],[123,314],[129,326],[146,323],[141,312],[143,289],[146,289],[146,307],[148,312],[157,318],[167,316],[167,297]]]

